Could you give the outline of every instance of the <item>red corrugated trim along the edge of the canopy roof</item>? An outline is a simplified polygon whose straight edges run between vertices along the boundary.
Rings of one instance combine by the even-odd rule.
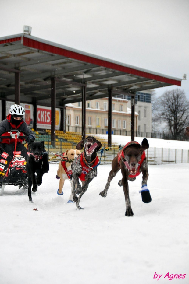
[[[10,38],[10,39],[6,39],[6,40],[1,40],[0,44],[14,42],[14,41],[18,41],[18,40],[21,40],[21,37],[15,37],[15,38]],[[137,70],[137,69],[134,69],[134,68],[129,68],[129,67],[122,66],[122,65],[112,63],[112,62],[108,62],[108,61],[105,61],[105,60],[102,60],[102,59],[98,59],[98,58],[94,58],[94,57],[87,56],[87,55],[84,55],[84,54],[80,54],[80,53],[77,53],[77,52],[74,52],[74,51],[69,51],[69,50],[66,50],[64,48],[55,47],[53,45],[45,44],[45,43],[39,42],[37,40],[30,39],[28,37],[23,37],[23,45],[28,46],[28,47],[33,47],[33,48],[36,48],[36,49],[39,49],[39,50],[51,52],[53,54],[59,54],[59,55],[62,55],[62,56],[70,57],[70,58],[73,58],[73,59],[76,59],[76,60],[84,61],[84,62],[95,64],[95,65],[98,65],[98,66],[103,66],[103,67],[106,67],[106,68],[118,70],[118,71],[121,71],[121,72],[131,73],[133,75],[141,76],[141,77],[144,77],[144,78],[157,80],[157,81],[160,81],[160,82],[165,82],[167,84],[181,86],[181,81],[178,81],[178,80],[169,79],[169,78],[166,78],[166,77],[163,77],[163,76],[159,76],[159,75],[155,75],[155,74],[152,74],[152,73],[140,71],[140,70]]]

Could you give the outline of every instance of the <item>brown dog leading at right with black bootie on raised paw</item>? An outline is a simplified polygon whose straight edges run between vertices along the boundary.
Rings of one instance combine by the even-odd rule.
[[[132,141],[127,143],[117,154],[117,156],[112,160],[112,170],[109,173],[108,182],[105,189],[100,192],[102,197],[106,197],[107,191],[110,186],[110,182],[113,177],[116,176],[117,172],[121,169],[122,180],[119,181],[119,186],[123,185],[123,191],[125,195],[126,212],[125,216],[133,216],[133,210],[131,208],[130,198],[129,198],[129,186],[128,180],[134,181],[136,176],[142,172],[142,201],[149,203],[152,201],[150,192],[147,187],[148,180],[148,164],[145,157],[144,150],[148,149],[148,140],[146,138],[142,141],[142,146],[136,142]]]

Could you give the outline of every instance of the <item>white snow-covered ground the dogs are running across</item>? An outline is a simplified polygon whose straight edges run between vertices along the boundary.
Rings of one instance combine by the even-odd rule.
[[[169,283],[168,272],[186,273],[171,283],[189,283],[189,164],[149,165],[149,204],[138,193],[141,175],[129,182],[133,217],[124,216],[120,172],[107,197],[99,195],[110,165],[98,167],[80,211],[67,204],[69,181],[57,195],[57,167],[50,165],[33,204],[14,186],[0,196],[1,284],[152,284],[155,272],[158,283]]]

